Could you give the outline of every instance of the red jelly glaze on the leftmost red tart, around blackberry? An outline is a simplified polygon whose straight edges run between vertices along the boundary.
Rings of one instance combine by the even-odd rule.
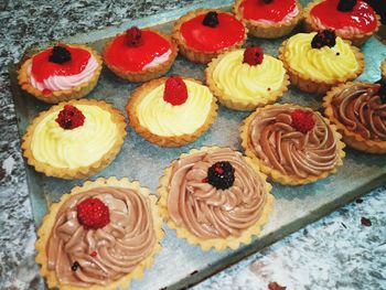
[[[78,47],[71,47],[65,44],[60,44],[71,53],[71,61],[63,64],[57,64],[49,61],[52,54],[52,47],[42,51],[32,58],[31,73],[33,77],[42,83],[50,76],[71,76],[82,73],[88,64],[90,53]]]

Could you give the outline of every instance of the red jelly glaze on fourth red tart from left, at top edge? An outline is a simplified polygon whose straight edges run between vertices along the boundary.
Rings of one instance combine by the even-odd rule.
[[[279,22],[292,12],[296,6],[296,0],[274,0],[270,3],[265,3],[264,0],[245,0],[239,9],[245,19]]]

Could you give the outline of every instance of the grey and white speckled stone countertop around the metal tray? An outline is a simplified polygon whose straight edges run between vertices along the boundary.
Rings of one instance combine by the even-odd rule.
[[[0,289],[43,289],[7,64],[32,44],[192,2],[200,1],[0,1]],[[195,289],[268,289],[274,281],[287,289],[386,289],[385,208],[386,189],[377,189]]]

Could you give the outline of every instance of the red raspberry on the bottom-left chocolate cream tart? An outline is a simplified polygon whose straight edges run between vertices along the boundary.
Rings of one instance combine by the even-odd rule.
[[[110,213],[106,204],[89,197],[76,206],[77,219],[86,229],[103,228],[110,223]]]

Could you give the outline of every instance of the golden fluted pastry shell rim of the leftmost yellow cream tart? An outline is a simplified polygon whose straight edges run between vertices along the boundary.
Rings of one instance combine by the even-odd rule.
[[[90,165],[87,167],[79,167],[75,169],[65,169],[65,168],[54,168],[47,163],[43,163],[37,161],[32,152],[31,149],[31,142],[32,137],[34,133],[34,130],[36,126],[40,123],[41,120],[43,120],[47,115],[50,115],[52,111],[63,108],[65,105],[92,105],[92,106],[98,106],[99,108],[107,110],[111,115],[111,121],[116,123],[117,126],[117,138],[112,146],[112,148],[106,152],[101,159],[95,161]],[[22,144],[21,148],[23,150],[23,155],[26,159],[28,163],[37,172],[44,173],[46,176],[54,176],[65,180],[75,180],[75,179],[84,179],[90,175],[96,174],[97,172],[101,171],[104,168],[109,165],[112,160],[118,154],[121,146],[124,144],[124,139],[126,137],[126,121],[125,117],[120,114],[120,111],[116,108],[114,108],[111,105],[103,101],[103,100],[96,100],[96,99],[79,99],[79,100],[69,100],[66,103],[61,103],[56,106],[51,107],[51,109],[46,111],[42,111],[36,118],[33,119],[32,123],[26,128],[26,132],[22,138]]]

